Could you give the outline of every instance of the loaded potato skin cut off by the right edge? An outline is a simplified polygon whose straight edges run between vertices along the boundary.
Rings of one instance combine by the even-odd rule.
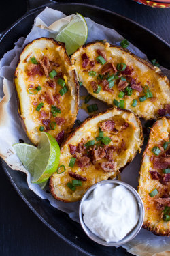
[[[158,119],[150,130],[139,173],[143,227],[158,236],[170,234],[170,119]]]

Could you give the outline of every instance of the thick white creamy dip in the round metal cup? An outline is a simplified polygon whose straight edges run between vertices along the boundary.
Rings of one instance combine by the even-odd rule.
[[[82,204],[84,223],[106,242],[118,242],[139,220],[137,200],[122,185],[96,186],[92,199]]]

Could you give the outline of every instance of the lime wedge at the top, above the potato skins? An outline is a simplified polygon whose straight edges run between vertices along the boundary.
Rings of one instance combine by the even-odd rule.
[[[65,42],[68,55],[74,53],[87,40],[88,27],[81,14],[76,14],[68,25],[56,36],[56,40]]]

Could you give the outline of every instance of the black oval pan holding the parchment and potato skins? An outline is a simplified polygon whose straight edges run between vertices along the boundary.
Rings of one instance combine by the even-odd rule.
[[[43,4],[40,7],[37,6],[39,2]],[[124,38],[130,40],[135,46],[140,48],[141,51],[146,53],[149,59],[156,58],[162,66],[170,68],[169,44],[148,29],[128,18],[124,18],[123,16],[102,8],[82,3],[55,3],[50,0],[29,0],[29,3],[34,9],[29,10],[27,14],[12,25],[10,29],[1,33],[0,59],[3,57],[4,53],[14,48],[14,42],[16,42],[18,38],[27,36],[29,31],[31,31],[34,18],[48,5],[50,8],[60,10],[66,15],[78,12],[83,16],[92,18],[92,20],[95,20],[97,23],[116,29]],[[158,49],[161,49],[161,51],[158,51]],[[78,223],[72,221],[67,214],[53,208],[47,200],[42,200],[37,197],[37,195],[29,189],[24,173],[13,171],[7,167],[3,160],[1,160],[0,163],[1,168],[10,178],[12,185],[24,202],[27,203],[29,208],[31,208],[41,221],[54,231],[54,233],[63,238],[65,242],[79,249],[85,255],[90,256],[131,255],[124,251],[123,248],[109,248],[92,242],[82,231]]]

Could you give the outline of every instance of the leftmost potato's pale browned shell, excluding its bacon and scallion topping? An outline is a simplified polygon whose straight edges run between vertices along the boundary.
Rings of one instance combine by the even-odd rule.
[[[41,122],[38,121],[39,117],[37,116],[37,113],[35,111],[35,106],[31,106],[33,100],[32,99],[29,100],[30,94],[28,93],[27,79],[25,79],[26,81],[24,81],[24,83],[21,83],[20,81],[21,81],[21,78],[27,77],[27,72],[28,72],[27,65],[29,65],[27,62],[28,62],[29,57],[34,57],[35,53],[37,53],[37,55],[39,56],[39,53],[36,52],[36,51],[40,50],[40,49],[36,48],[39,45],[40,45],[42,51],[46,51],[47,55],[49,52],[50,56],[52,56],[54,58],[56,57],[58,59],[58,61],[61,64],[60,65],[61,70],[63,69],[64,74],[66,74],[67,79],[68,79],[67,83],[68,83],[68,88],[69,88],[69,90],[68,90],[69,99],[65,100],[65,104],[63,104],[63,106],[68,105],[69,111],[64,111],[65,113],[62,113],[62,115],[57,115],[58,117],[60,117],[60,116],[66,117],[66,122],[65,122],[64,126],[61,125],[61,127],[59,127],[59,125],[57,124],[55,130],[48,129],[48,132],[50,134],[52,134],[53,137],[56,137],[57,134],[59,132],[61,132],[61,130],[64,130],[66,134],[68,132],[70,132],[70,130],[73,127],[73,124],[75,122],[75,119],[76,119],[76,116],[78,113],[78,105],[79,105],[78,80],[77,80],[77,76],[75,73],[75,68],[71,65],[70,58],[67,55],[67,52],[65,49],[65,44],[63,42],[56,42],[56,40],[54,40],[53,38],[38,38],[38,39],[35,39],[32,42],[30,42],[29,44],[27,44],[24,47],[24,49],[20,55],[18,65],[16,67],[16,71],[15,71],[15,75],[14,75],[14,87],[16,89],[16,98],[18,101],[18,113],[20,115],[20,120],[21,120],[22,126],[23,126],[27,136],[29,137],[30,141],[34,145],[37,145],[39,143],[39,135],[40,135],[39,126],[43,125],[43,124],[41,124]],[[33,51],[31,51],[31,50],[33,50]],[[54,55],[53,55],[53,52],[54,52]],[[59,53],[59,52],[61,52],[61,53]],[[39,79],[38,75],[35,76],[35,79],[37,79],[37,78]],[[48,78],[47,78],[45,76],[45,74],[42,77],[40,77],[40,79],[43,79],[42,83],[39,83],[39,85],[41,85],[41,87],[42,87],[41,91],[43,91],[43,89],[44,89],[44,93],[46,94],[46,91],[49,91],[49,89],[51,89],[51,88],[49,87],[49,88],[45,89],[44,82],[46,83],[46,81],[51,81],[52,79],[50,79],[50,76],[48,76]],[[22,80],[24,80],[24,79],[22,79]],[[33,85],[34,85],[34,82],[36,83],[36,80],[34,80],[34,79],[33,79],[33,81],[29,81],[29,83],[33,83]],[[55,82],[56,82],[56,80],[55,80]],[[61,86],[56,84],[56,87],[61,87]],[[33,89],[35,89],[35,86]],[[61,89],[61,88],[59,88],[59,89]],[[24,96],[23,96],[23,91],[25,94]],[[41,95],[41,91],[39,91],[39,93],[37,95]],[[37,99],[35,98],[35,100],[37,100]],[[42,100],[42,101],[46,102],[46,98],[45,98],[45,100]],[[40,100],[40,102],[41,102],[41,100]],[[62,101],[62,103],[63,103],[63,101]],[[27,106],[30,107],[31,112],[33,112],[33,109],[34,109],[34,113],[35,113],[34,120],[33,120],[34,113],[32,116],[29,115],[29,113],[26,113],[25,109],[23,108],[23,104],[27,104]],[[56,100],[55,100],[54,104],[56,104]],[[56,106],[57,106],[57,104],[56,104]],[[48,109],[45,109],[45,110],[47,110],[46,112],[48,114],[50,113],[49,108],[50,108],[50,105],[48,106]],[[64,109],[64,107],[63,107],[63,109]],[[68,112],[68,115],[69,115],[68,118],[67,118],[66,112]],[[45,117],[45,118],[47,118],[47,117]],[[54,121],[54,120],[52,119],[52,121]],[[30,125],[30,122],[31,122],[31,125]],[[28,125],[28,123],[29,123],[29,125]],[[45,126],[44,126],[44,129],[46,129]]]

